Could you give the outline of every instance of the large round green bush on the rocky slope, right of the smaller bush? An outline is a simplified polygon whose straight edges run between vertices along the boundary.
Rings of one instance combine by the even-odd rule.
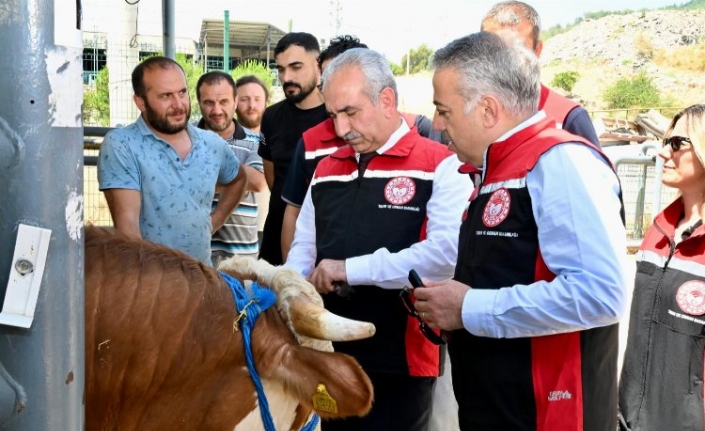
[[[661,104],[661,93],[645,73],[622,78],[602,94],[609,109],[648,108]]]

